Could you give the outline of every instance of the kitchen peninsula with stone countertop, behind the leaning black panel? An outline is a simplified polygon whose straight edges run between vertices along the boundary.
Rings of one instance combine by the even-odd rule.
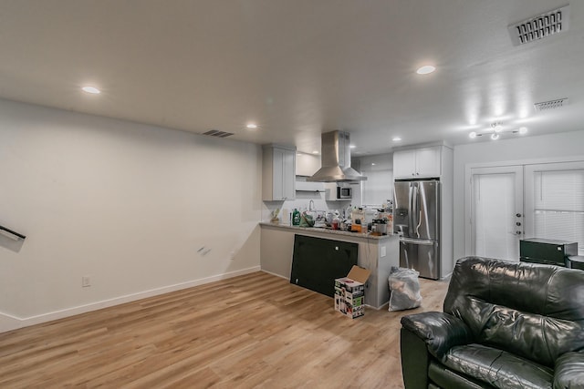
[[[370,271],[365,285],[365,303],[380,309],[390,300],[388,277],[391,266],[399,266],[398,235],[374,236],[342,230],[304,228],[261,222],[260,262],[263,271],[290,279],[294,236],[303,235],[359,245],[358,264]]]

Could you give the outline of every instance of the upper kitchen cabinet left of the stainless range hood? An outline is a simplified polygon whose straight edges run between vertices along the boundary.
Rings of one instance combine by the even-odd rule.
[[[262,200],[294,200],[296,148],[280,145],[264,146],[262,174]]]

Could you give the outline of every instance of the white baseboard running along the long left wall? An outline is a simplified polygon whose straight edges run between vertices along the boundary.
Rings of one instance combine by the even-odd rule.
[[[74,316],[76,314],[96,311],[102,308],[111,307],[114,305],[123,304],[125,302],[135,302],[137,300],[145,299],[147,297],[157,296],[159,294],[164,294],[168,292],[180,291],[182,289],[193,288],[193,286],[203,285],[209,282],[216,282],[221,280],[226,280],[229,278],[237,277],[239,275],[249,274],[255,271],[260,271],[259,266],[254,266],[252,268],[242,269],[239,271],[230,271],[224,274],[214,275],[212,277],[206,277],[199,280],[193,280],[189,282],[176,283],[174,285],[163,286],[161,288],[151,289],[149,291],[137,292],[126,294],[120,297],[114,297],[113,299],[103,300],[100,302],[91,302],[86,305],[79,305],[77,307],[71,307],[60,311],[42,313],[36,316],[30,316],[26,318],[19,318],[12,316],[8,313],[0,312],[0,333],[5,333],[7,331],[16,330],[18,328],[28,327],[30,325],[39,324],[41,322],[51,322],[53,320],[62,319],[64,317]]]

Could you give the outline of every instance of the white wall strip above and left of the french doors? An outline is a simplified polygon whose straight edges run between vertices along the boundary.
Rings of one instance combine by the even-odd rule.
[[[464,256],[464,169],[472,164],[584,159],[584,131],[454,147],[454,260]]]

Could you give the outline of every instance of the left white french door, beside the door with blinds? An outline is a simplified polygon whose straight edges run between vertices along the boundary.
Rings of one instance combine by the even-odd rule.
[[[519,261],[523,237],[523,167],[467,170],[467,255]]]

